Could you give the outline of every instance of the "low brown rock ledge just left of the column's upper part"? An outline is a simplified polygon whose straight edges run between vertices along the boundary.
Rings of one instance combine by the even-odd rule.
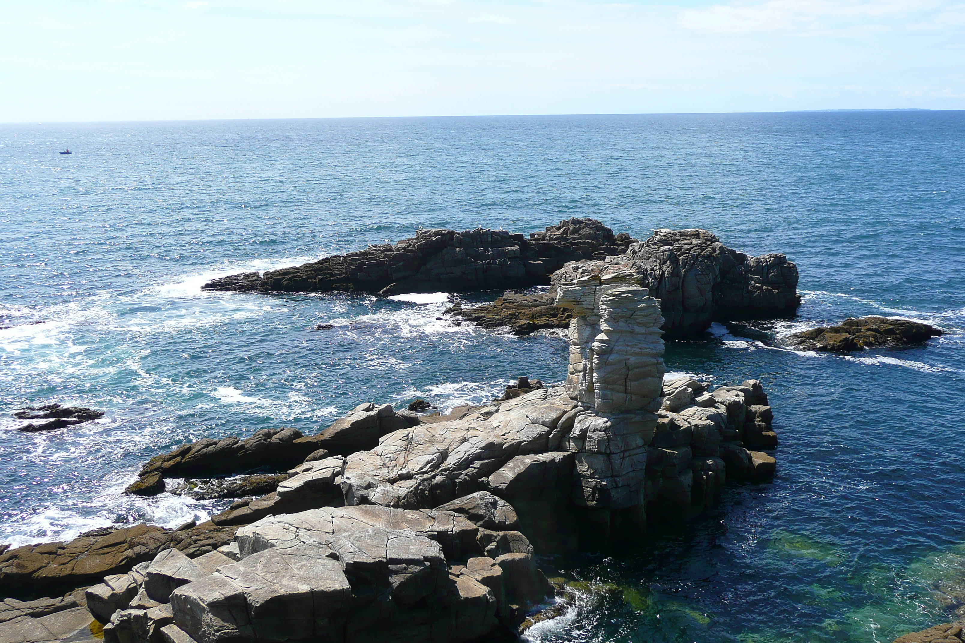
[[[533,294],[507,291],[492,304],[462,308],[461,304],[446,309],[480,328],[509,328],[513,335],[530,335],[540,329],[569,328],[572,313],[556,306],[556,293],[547,291]]]

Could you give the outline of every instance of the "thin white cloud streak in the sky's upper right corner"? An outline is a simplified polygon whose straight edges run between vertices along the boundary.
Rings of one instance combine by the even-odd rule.
[[[954,24],[958,7],[935,0],[765,0],[679,13],[678,24],[714,34],[802,32],[857,35]]]

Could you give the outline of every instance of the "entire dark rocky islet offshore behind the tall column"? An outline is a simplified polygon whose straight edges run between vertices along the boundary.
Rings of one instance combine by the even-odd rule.
[[[547,293],[506,292],[493,304],[456,305],[454,313],[483,328],[516,335],[566,328],[555,306],[561,283],[628,272],[660,300],[666,338],[694,335],[713,321],[791,315],[800,305],[797,267],[785,255],[748,256],[701,229],[659,229],[646,241],[614,234],[594,219],[570,219],[542,232],[420,230],[394,245],[260,273],[209,281],[207,290],[249,292],[468,292],[552,284]]]

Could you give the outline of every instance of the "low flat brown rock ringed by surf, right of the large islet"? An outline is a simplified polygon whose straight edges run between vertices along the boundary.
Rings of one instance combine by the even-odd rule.
[[[789,335],[787,342],[804,351],[848,353],[876,346],[908,346],[942,335],[942,330],[907,319],[862,317],[838,326],[814,328]]]

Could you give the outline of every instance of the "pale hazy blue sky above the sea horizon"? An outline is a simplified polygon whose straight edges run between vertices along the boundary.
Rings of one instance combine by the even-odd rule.
[[[965,109],[965,0],[0,0],[0,122]]]

